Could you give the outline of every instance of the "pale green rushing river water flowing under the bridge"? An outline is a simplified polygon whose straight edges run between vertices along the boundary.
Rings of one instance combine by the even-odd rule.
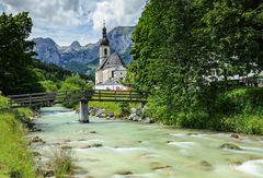
[[[79,170],[87,178],[250,178],[263,177],[263,139],[232,139],[230,133],[179,130],[91,117],[79,123],[78,114],[62,107],[43,108],[36,120],[45,145],[35,150],[47,158],[57,146],[70,147]],[[241,150],[221,149],[235,143]],[[102,144],[100,147],[90,147]]]

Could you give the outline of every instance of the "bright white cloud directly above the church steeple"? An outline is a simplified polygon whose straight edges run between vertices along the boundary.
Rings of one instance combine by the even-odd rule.
[[[103,0],[96,3],[92,14],[94,29],[101,29],[103,20],[111,28],[135,25],[145,7],[145,0]]]

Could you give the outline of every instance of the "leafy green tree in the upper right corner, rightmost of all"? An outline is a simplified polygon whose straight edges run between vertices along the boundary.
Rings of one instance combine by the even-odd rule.
[[[263,2],[217,0],[204,14],[206,47],[216,54],[218,68],[228,75],[262,70]],[[230,72],[232,71],[232,72]]]

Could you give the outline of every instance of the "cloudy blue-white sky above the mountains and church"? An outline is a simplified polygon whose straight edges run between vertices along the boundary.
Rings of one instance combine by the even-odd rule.
[[[103,20],[108,31],[136,25],[146,0],[0,0],[0,13],[30,12],[30,38],[50,37],[60,46],[96,43]]]

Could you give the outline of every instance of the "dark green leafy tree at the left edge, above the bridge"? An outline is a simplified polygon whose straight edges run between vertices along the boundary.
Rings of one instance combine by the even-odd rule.
[[[32,67],[34,43],[26,40],[32,25],[27,12],[0,15],[0,91],[4,94],[43,91]]]

